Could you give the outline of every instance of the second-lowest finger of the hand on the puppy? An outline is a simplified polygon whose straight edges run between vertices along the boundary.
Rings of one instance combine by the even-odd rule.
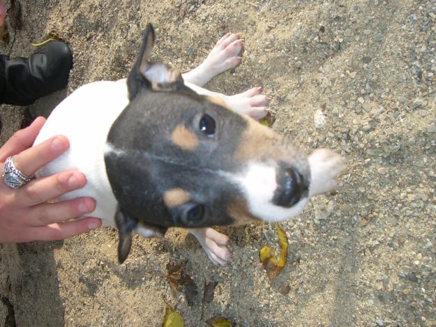
[[[96,208],[96,201],[91,197],[82,197],[57,203],[44,203],[34,206],[29,211],[26,224],[33,227],[47,226],[64,222],[91,213]]]

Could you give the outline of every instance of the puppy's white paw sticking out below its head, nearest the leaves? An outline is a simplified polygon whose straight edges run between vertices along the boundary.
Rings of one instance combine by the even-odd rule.
[[[231,252],[227,248],[229,236],[221,234],[213,228],[195,228],[188,229],[190,234],[193,234],[200,242],[207,257],[211,259],[213,264],[224,266],[230,261]]]

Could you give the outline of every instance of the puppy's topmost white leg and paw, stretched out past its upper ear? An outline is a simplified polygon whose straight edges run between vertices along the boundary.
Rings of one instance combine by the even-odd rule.
[[[200,66],[188,73],[182,74],[183,79],[186,82],[203,86],[216,75],[238,66],[242,60],[239,56],[242,47],[243,40],[239,39],[238,34],[227,33],[218,40],[215,47],[213,47]]]

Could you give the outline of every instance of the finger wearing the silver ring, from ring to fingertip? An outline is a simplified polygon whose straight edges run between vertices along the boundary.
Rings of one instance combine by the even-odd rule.
[[[57,135],[15,155],[13,162],[24,175],[32,176],[40,167],[47,165],[66,151],[68,146],[70,146],[68,139],[62,135]]]

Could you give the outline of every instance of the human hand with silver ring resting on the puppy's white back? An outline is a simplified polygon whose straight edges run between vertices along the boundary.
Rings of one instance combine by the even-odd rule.
[[[44,123],[45,119],[38,117],[31,126],[8,139],[0,148],[0,169],[6,158],[14,155],[15,167],[24,175],[33,176],[68,149],[68,139],[61,135],[32,146]],[[86,183],[84,174],[77,171],[33,179],[17,189],[0,180],[0,243],[59,240],[100,227],[98,218],[66,221],[91,213],[96,208],[96,201],[91,197],[47,202],[83,188]]]

